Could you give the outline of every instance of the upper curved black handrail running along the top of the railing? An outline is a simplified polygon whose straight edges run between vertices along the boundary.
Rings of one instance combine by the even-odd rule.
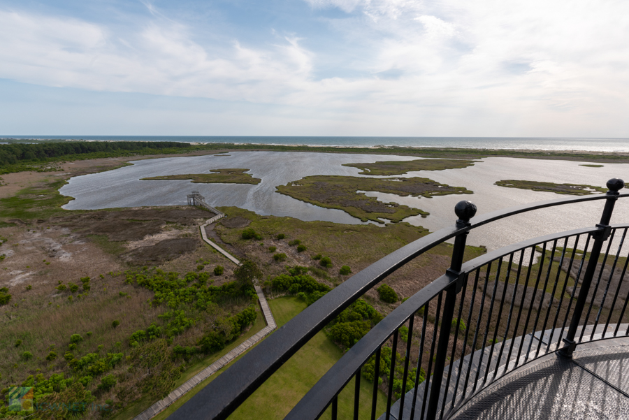
[[[620,186],[623,182],[621,180],[610,180],[608,187],[610,191],[607,195],[596,196],[580,196],[577,198],[561,198],[559,200],[542,201],[540,203],[533,203],[530,205],[519,205],[505,210],[498,210],[491,212],[483,217],[477,219],[474,224],[469,224],[469,217],[473,216],[473,212],[470,213],[470,208],[461,209],[461,214],[457,211],[459,217],[455,226],[447,227],[432,233],[424,238],[420,238],[409,245],[405,245],[397,251],[385,256],[376,263],[373,263],[368,268],[361,270],[361,272],[352,276],[346,282],[340,284],[330,293],[326,294],[323,298],[317,300],[306,310],[298,314],[294,319],[291,319],[287,324],[278,328],[273,335],[261,342],[251,352],[243,356],[240,361],[235,363],[229,368],[229,373],[217,377],[204,389],[199,391],[196,396],[191,398],[185,405],[180,407],[170,418],[171,419],[225,419],[226,417],[236,410],[236,407],[243,403],[243,401],[250,396],[273,372],[280,368],[280,366],[286,362],[298,349],[305,345],[310,338],[312,338],[317,332],[321,331],[324,326],[328,324],[334,317],[336,317],[342,310],[345,310],[349,305],[354,303],[356,299],[362,296],[375,284],[383,280],[385,277],[393,273],[395,270],[404,266],[405,263],[411,261],[415,257],[423,254],[432,247],[439,245],[440,243],[456,237],[454,252],[457,254],[456,259],[463,258],[463,247],[465,247],[465,234],[471,229],[475,229],[478,226],[482,226],[489,222],[493,222],[504,217],[517,215],[530,210],[537,210],[540,208],[548,208],[555,205],[564,205],[569,203],[581,203],[584,201],[595,201],[601,199],[612,198],[610,193],[612,189]],[[616,189],[616,191],[618,191]],[[614,200],[619,197],[627,197],[629,194],[618,194],[614,192]],[[468,207],[471,203],[468,203]],[[468,215],[468,219],[465,219],[465,215]],[[445,316],[452,316],[454,311],[454,300],[456,294],[461,289],[461,271],[460,262],[457,263],[456,259],[453,259],[453,266],[449,269],[449,273],[445,277],[435,280],[433,284],[442,285],[442,289],[437,291],[436,289],[428,289],[425,294],[435,291],[451,291],[446,294],[444,299],[444,314]],[[443,279],[447,280],[443,280]],[[444,282],[447,282],[444,283]],[[422,294],[424,296],[424,294]],[[410,299],[409,299],[410,300]],[[438,302],[438,307],[441,306],[441,296]],[[413,300],[415,301],[415,300]],[[408,305],[407,305],[408,306]],[[419,307],[417,308],[419,309]],[[381,321],[378,325],[388,325],[385,323],[386,319]],[[383,324],[384,323],[384,324]],[[443,323],[445,324],[445,323]],[[448,322],[449,324],[449,322]],[[382,327],[381,327],[382,328]],[[442,329],[445,328],[442,326]],[[379,331],[379,330],[377,330]],[[436,333],[436,326],[435,326]],[[443,335],[440,335],[443,336]],[[447,344],[447,343],[445,343]],[[440,347],[445,345],[442,343]],[[438,358],[444,357],[444,352],[438,349]],[[374,350],[375,351],[375,350]],[[379,359],[377,359],[378,362]],[[436,363],[437,368],[443,368],[442,361]],[[356,374],[356,372],[353,372]],[[435,372],[436,373],[436,372]],[[439,381],[440,376],[435,379],[435,382]],[[437,375],[435,375],[437,377]],[[433,397],[434,399],[435,397]],[[437,400],[433,401],[433,409],[437,404]]]

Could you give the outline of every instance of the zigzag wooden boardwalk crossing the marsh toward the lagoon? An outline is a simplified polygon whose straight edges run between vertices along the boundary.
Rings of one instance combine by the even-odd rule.
[[[201,237],[203,238],[203,240],[205,240],[205,242],[208,242],[208,244],[212,245],[212,247],[217,249],[217,251],[219,251],[221,254],[223,254],[224,256],[229,258],[231,261],[236,263],[236,265],[240,265],[240,261],[235,259],[229,253],[227,253],[224,249],[222,249],[221,247],[216,245],[214,242],[209,240],[208,237],[205,235],[205,226],[208,226],[208,224],[210,223],[216,222],[218,219],[224,216],[225,215],[221,213],[220,215],[217,215],[209,219],[207,222],[205,222],[205,224],[202,224]],[[240,356],[240,354],[243,354],[245,351],[247,351],[247,349],[250,349],[251,347],[253,347],[253,345],[255,345],[257,342],[265,338],[269,333],[271,333],[271,331],[277,328],[277,324],[275,324],[275,319],[273,318],[273,314],[270,312],[270,308],[268,307],[268,303],[266,301],[266,298],[264,297],[262,289],[256,285],[254,285],[254,287],[256,289],[256,294],[258,295],[258,300],[260,302],[262,313],[264,314],[266,327],[262,328],[260,331],[252,335],[250,338],[247,338],[247,340],[240,343],[240,345],[231,349],[229,353],[222,356],[222,358],[218,359],[217,361],[209,365],[207,368],[201,370],[201,372],[198,372],[196,375],[188,379],[177,389],[169,393],[168,396],[166,396],[166,398],[157,401],[157,403],[154,403],[153,405],[148,407],[146,410],[138,414],[136,417],[134,417],[133,420],[150,420],[153,417],[157,416],[157,414],[166,410],[168,406],[170,406],[176,400],[184,396],[185,393],[193,389],[194,386],[203,382],[205,379],[207,379],[208,377],[213,375],[215,372],[223,368],[225,365],[233,361],[233,359],[236,359],[236,357]]]

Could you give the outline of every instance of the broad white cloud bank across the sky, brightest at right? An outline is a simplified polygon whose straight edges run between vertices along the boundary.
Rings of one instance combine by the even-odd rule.
[[[315,54],[303,45],[317,34],[280,36],[282,28],[275,43],[205,44],[150,3],[150,20],[122,34],[0,10],[0,78],[293,106],[346,128],[381,124],[370,131],[381,135],[629,129],[626,1],[305,1],[347,13],[328,23],[349,55]],[[338,75],[317,78],[323,61],[338,63]]]

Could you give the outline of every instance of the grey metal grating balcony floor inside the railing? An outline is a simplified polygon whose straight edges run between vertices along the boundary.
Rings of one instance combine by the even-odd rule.
[[[507,375],[451,419],[629,420],[629,342],[579,347],[572,361],[549,354]]]

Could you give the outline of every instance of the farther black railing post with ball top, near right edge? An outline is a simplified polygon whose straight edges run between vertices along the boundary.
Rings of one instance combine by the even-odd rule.
[[[600,223],[596,225],[596,227],[598,227],[598,231],[591,233],[594,245],[592,246],[592,251],[590,252],[590,259],[583,277],[583,282],[581,282],[581,290],[579,291],[579,297],[577,298],[577,305],[574,306],[572,321],[570,321],[570,329],[568,329],[567,335],[563,339],[565,347],[560,349],[558,352],[561,356],[569,359],[572,359],[572,353],[574,352],[574,349],[577,348],[577,342],[574,341],[574,336],[577,335],[577,328],[579,328],[581,315],[583,314],[583,309],[585,307],[588,294],[590,293],[590,286],[592,278],[594,277],[594,272],[596,271],[596,266],[598,265],[600,250],[602,249],[603,243],[607,240],[607,238],[609,238],[609,233],[612,232],[612,229],[609,227],[609,220],[612,219],[614,204],[616,204],[616,200],[618,200],[618,196],[620,194],[618,191],[620,191],[624,186],[625,182],[619,178],[612,178],[607,181],[607,188],[609,191],[607,191],[605,208],[603,209],[600,217]],[[587,249],[584,250],[584,252],[587,251]],[[577,287],[577,284],[574,284],[574,287]],[[583,328],[585,327],[586,326],[583,326]]]

